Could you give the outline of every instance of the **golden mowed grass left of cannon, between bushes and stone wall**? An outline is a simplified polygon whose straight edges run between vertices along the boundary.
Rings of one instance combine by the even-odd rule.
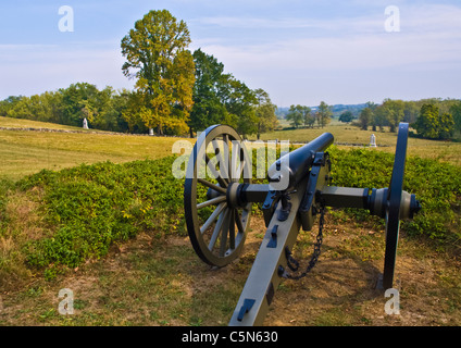
[[[171,156],[177,140],[125,134],[0,130],[0,178],[17,181],[42,169],[58,171],[80,163],[159,159]]]

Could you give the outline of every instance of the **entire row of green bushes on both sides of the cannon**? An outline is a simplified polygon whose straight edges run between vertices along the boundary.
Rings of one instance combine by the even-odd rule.
[[[389,185],[393,154],[336,147],[328,152],[333,185]],[[45,170],[20,181],[18,188],[32,195],[42,192],[40,213],[52,231],[49,237],[26,245],[27,263],[45,268],[52,275],[60,266],[75,268],[88,258],[102,257],[111,245],[141,231],[159,237],[186,234],[184,181],[172,175],[173,161],[170,157],[124,164],[83,164],[60,172]],[[408,158],[403,189],[415,194],[423,207],[414,220],[401,224],[409,235],[459,243],[461,167]]]

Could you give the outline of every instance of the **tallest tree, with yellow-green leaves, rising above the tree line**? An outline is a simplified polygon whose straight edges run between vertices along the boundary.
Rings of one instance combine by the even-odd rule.
[[[122,39],[122,54],[126,58],[122,71],[137,79],[136,99],[142,103],[126,112],[127,117],[141,119],[148,128],[157,127],[159,134],[165,128],[175,133],[187,129],[195,83],[189,44],[186,23],[167,10],[150,11],[135,23]]]

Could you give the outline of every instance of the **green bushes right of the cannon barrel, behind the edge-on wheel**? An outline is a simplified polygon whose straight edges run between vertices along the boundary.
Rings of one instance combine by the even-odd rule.
[[[394,154],[371,149],[329,150],[333,185],[347,187],[388,187]],[[409,235],[425,235],[440,243],[461,238],[461,167],[431,159],[408,157],[403,189],[416,195],[422,211],[403,221]]]

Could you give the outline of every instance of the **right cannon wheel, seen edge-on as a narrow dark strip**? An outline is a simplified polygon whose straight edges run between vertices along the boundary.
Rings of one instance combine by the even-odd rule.
[[[396,268],[397,243],[400,231],[400,206],[403,189],[404,163],[408,144],[408,123],[399,124],[397,136],[396,157],[394,159],[393,175],[387,190],[386,209],[386,250],[384,257],[383,287],[391,288]]]

